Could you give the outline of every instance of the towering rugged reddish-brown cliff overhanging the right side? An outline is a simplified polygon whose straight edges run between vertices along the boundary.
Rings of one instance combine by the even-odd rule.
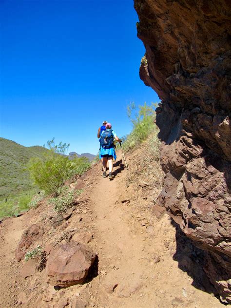
[[[231,303],[231,2],[135,0],[135,10],[140,77],[162,100],[159,204],[206,251],[204,270]]]

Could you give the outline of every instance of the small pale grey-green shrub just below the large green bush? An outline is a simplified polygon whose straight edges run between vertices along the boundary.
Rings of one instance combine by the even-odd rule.
[[[77,195],[82,193],[82,190],[69,190],[67,186],[64,186],[57,197],[51,198],[49,203],[54,206],[56,212],[66,212],[75,204]]]

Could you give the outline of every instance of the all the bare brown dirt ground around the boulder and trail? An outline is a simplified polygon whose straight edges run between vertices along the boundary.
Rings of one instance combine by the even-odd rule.
[[[121,168],[120,159],[119,153],[113,181],[102,178],[100,166],[94,166],[81,179],[85,188],[75,214],[58,227],[46,225],[47,245],[68,234],[89,242],[98,255],[98,274],[66,289],[46,284],[45,270],[22,278],[23,262],[15,260],[14,252],[25,228],[46,221],[48,206],[43,202],[0,226],[0,307],[224,307],[209,293],[211,286],[198,264],[201,252],[167,214],[154,217],[153,190],[142,185],[142,177],[129,182],[131,172]]]

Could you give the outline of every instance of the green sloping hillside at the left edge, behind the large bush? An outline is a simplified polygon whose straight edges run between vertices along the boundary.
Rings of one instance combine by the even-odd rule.
[[[41,157],[46,151],[40,146],[24,147],[0,138],[0,199],[32,188],[32,181],[25,167],[31,157]]]

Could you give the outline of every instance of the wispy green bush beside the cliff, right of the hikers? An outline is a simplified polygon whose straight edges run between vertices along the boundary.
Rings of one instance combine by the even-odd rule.
[[[154,130],[157,130],[154,124],[154,107],[156,107],[156,104],[152,103],[151,106],[148,106],[146,102],[138,108],[134,103],[127,107],[127,114],[132,121],[133,130],[124,137],[123,149],[125,152],[137,148],[149,135],[153,134]],[[133,115],[134,112],[135,115]]]

